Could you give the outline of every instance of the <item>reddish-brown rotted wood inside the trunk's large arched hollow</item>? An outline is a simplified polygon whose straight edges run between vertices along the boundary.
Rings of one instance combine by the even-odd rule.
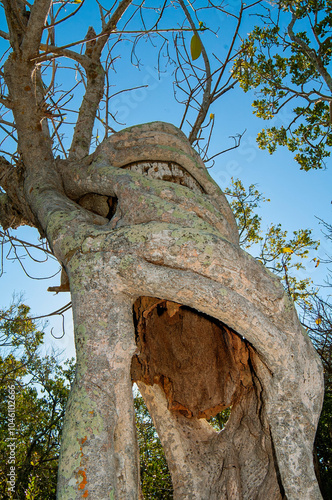
[[[168,408],[211,418],[253,385],[248,343],[221,322],[190,307],[150,297],[134,304],[139,354],[133,381],[159,384]]]

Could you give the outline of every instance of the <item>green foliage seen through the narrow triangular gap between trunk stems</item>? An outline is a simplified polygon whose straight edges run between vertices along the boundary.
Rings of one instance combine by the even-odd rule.
[[[172,481],[158,434],[143,398],[136,395],[134,403],[143,496],[146,499],[172,499]]]

